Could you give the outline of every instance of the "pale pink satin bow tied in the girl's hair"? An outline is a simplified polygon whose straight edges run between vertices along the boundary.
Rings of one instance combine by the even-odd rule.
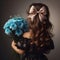
[[[28,18],[30,18],[31,21],[33,21],[35,15],[37,13],[39,13],[39,19],[41,21],[46,18],[45,15],[47,14],[47,12],[46,12],[46,8],[44,6],[41,7],[39,11],[37,11],[37,9],[34,6],[31,6],[31,8],[29,10]]]

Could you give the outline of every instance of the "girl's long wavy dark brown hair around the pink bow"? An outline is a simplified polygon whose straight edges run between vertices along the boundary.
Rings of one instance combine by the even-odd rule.
[[[27,14],[29,15],[29,10],[31,8],[31,6],[34,6],[37,11],[40,10],[41,7],[45,7],[46,8],[46,12],[47,14],[46,19],[42,20],[42,22],[39,19],[39,14],[37,14],[34,19],[33,22],[28,18],[28,22],[30,24],[30,29],[32,30],[32,41],[37,41],[38,46],[40,46],[41,44],[44,45],[46,43],[46,41],[50,40],[53,37],[52,34],[52,23],[49,20],[49,8],[48,6],[46,6],[45,4],[42,3],[33,3],[29,6],[28,10],[27,10]]]

